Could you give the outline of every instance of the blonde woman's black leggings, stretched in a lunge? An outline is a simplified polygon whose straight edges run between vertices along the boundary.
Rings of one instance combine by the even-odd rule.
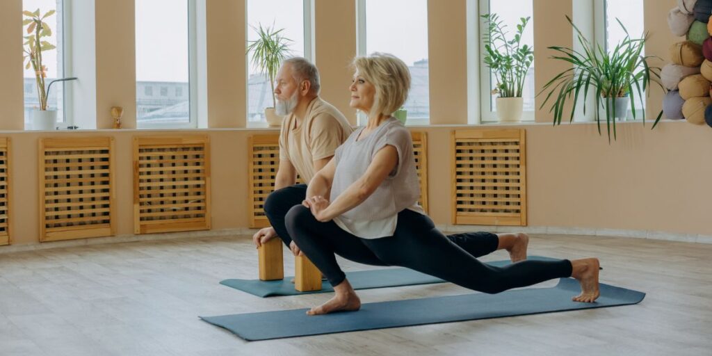
[[[334,221],[320,222],[304,206],[286,216],[287,231],[305,255],[337,286],[346,278],[335,254],[358,263],[403,266],[484,293],[500,293],[554,278],[571,276],[571,262],[520,261],[506,267],[488,266],[435,228],[428,216],[404,210],[393,236],[361,239]]]

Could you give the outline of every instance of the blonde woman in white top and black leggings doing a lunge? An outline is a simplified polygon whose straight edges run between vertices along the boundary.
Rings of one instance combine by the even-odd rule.
[[[309,315],[361,306],[336,254],[359,263],[412,268],[484,293],[571,276],[582,289],[573,300],[598,298],[597,258],[520,261],[497,268],[481,263],[436,229],[417,204],[420,189],[410,133],[391,116],[408,96],[407,66],[394,56],[375,53],[355,58],[353,67],[350,106],[367,113],[368,123],[337,148],[311,180],[303,204],[286,216],[290,236],[335,291]]]

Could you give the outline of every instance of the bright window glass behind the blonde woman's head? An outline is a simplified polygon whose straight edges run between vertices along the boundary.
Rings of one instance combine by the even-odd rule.
[[[402,59],[411,75],[408,100],[409,124],[429,122],[427,0],[359,0],[358,53],[390,53]],[[360,117],[359,120],[365,120]]]

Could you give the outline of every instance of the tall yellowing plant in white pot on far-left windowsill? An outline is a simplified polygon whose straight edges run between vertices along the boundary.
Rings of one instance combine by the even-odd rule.
[[[27,60],[25,69],[32,68],[35,72],[35,81],[37,87],[37,95],[39,97],[40,106],[36,110],[30,112],[30,121],[35,129],[39,130],[54,130],[57,122],[57,110],[49,110],[47,100],[49,98],[52,84],[66,80],[75,80],[76,78],[61,78],[51,80],[45,86],[45,78],[47,78],[47,67],[42,63],[42,52],[51,51],[56,48],[52,43],[46,41],[52,36],[52,29],[45,22],[49,16],[55,14],[55,10],[47,11],[41,15],[40,9],[36,11],[23,11],[25,19],[22,21],[22,26],[27,26],[25,42],[23,43],[24,59]]]

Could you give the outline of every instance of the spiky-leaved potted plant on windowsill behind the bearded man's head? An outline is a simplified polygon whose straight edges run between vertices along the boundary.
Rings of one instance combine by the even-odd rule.
[[[274,98],[274,80],[282,61],[290,54],[288,43],[292,40],[282,36],[284,28],[275,30],[271,27],[263,27],[261,23],[258,24],[258,27],[251,27],[257,32],[258,39],[250,41],[247,53],[252,55],[253,66],[265,75],[272,89],[270,92],[272,93],[272,107],[265,108],[265,117],[268,125],[279,126],[282,123],[282,117],[275,113],[277,103]]]

